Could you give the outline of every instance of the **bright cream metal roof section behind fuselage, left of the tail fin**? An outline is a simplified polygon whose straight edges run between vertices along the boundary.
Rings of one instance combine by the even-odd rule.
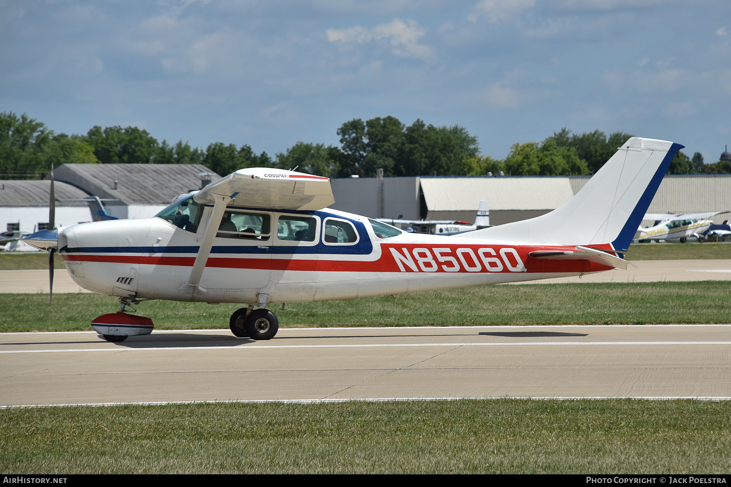
[[[568,177],[422,177],[429,211],[477,210],[481,199],[490,210],[554,210],[572,199]]]

